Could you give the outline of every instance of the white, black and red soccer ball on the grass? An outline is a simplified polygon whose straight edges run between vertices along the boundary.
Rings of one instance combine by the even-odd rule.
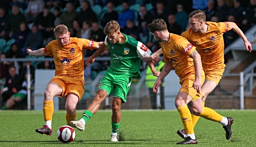
[[[60,140],[62,143],[70,143],[75,139],[75,130],[68,126],[68,125],[63,125],[58,129],[57,132],[57,138]]]

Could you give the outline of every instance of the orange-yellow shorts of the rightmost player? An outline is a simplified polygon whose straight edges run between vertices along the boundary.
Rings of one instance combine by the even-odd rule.
[[[212,67],[209,69],[203,69],[205,74],[205,80],[214,81],[217,85],[222,78],[224,67]]]

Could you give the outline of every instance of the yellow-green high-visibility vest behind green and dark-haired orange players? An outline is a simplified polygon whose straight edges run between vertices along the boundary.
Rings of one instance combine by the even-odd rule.
[[[165,65],[165,62],[159,61],[159,62],[158,62],[158,66],[155,66],[155,69],[156,69],[157,71],[161,71],[161,69],[163,68],[164,65]],[[154,87],[154,84],[155,84],[155,81],[157,80],[157,78],[158,78],[158,77],[156,77],[156,76],[154,76],[154,75],[152,74],[150,67],[147,66],[146,78],[145,78],[147,88],[153,88],[153,87]],[[162,86],[164,86],[164,82],[162,82]]]

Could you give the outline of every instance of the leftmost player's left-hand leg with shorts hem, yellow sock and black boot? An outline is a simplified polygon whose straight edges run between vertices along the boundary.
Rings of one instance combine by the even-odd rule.
[[[61,86],[59,86],[61,85]],[[65,85],[62,80],[54,77],[46,86],[43,101],[43,113],[45,125],[42,128],[36,129],[35,132],[40,134],[51,135],[52,134],[52,115],[53,115],[53,97],[63,96],[65,92]]]

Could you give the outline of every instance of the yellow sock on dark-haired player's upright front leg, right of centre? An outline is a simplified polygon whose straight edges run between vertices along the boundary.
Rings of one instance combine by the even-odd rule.
[[[187,134],[194,134],[192,117],[188,109],[188,106],[187,105],[180,106],[177,108],[177,110],[180,113],[180,118],[183,123],[184,129],[187,131]]]

